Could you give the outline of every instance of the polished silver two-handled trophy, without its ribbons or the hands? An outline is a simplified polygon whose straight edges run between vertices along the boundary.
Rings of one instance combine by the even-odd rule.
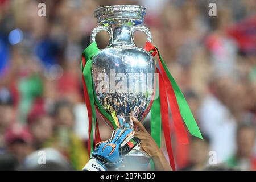
[[[91,42],[100,31],[109,34],[108,46],[92,57],[97,99],[118,128],[134,129],[131,115],[142,122],[154,97],[155,61],[149,52],[135,45],[133,38],[135,31],[142,31],[151,42],[148,28],[138,26],[143,23],[146,9],[135,5],[105,6],[96,9],[94,15],[99,26],[92,31]],[[141,147],[135,147],[125,160],[130,164],[125,169],[136,169],[134,163],[147,166],[150,158]]]

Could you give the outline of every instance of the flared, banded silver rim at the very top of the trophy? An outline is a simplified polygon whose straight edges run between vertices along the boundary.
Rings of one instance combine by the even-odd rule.
[[[146,8],[137,5],[113,5],[99,7],[94,11],[98,24],[108,26],[122,20],[129,20],[133,25],[141,24],[146,15]]]

